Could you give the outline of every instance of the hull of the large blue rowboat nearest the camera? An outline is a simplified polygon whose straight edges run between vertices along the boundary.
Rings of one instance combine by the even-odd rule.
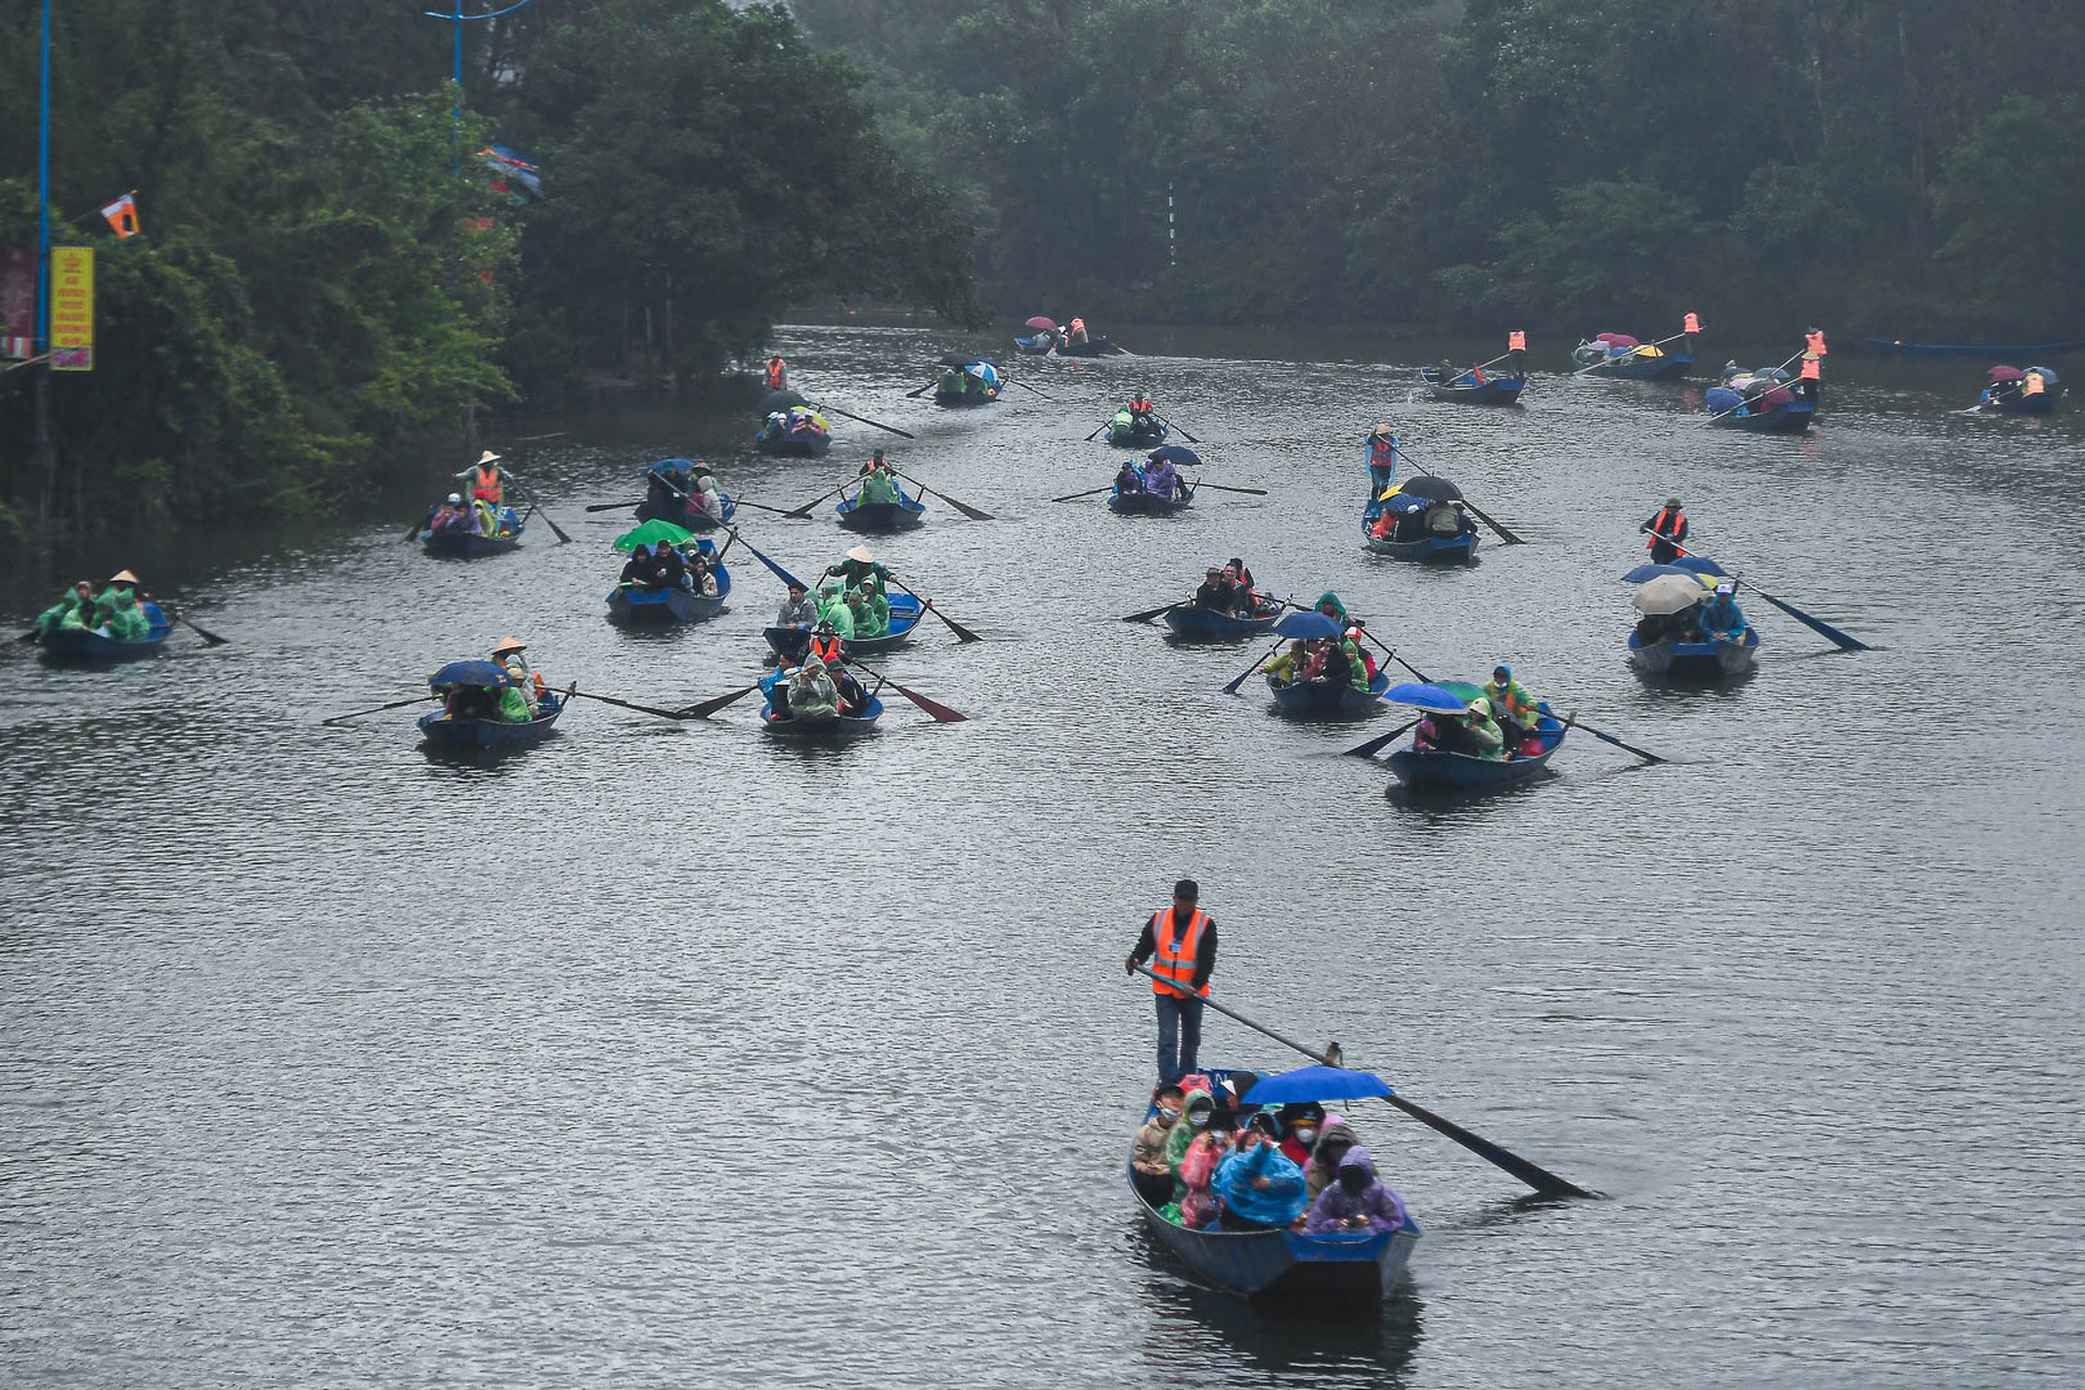
[[[1230,1075],[1207,1069],[1213,1082]],[[1266,1302],[1303,1298],[1311,1305],[1366,1305],[1380,1300],[1412,1263],[1420,1223],[1405,1209],[1395,1232],[1336,1232],[1311,1236],[1301,1230],[1224,1232],[1193,1230],[1168,1221],[1166,1213],[1136,1188],[1136,1169],[1124,1163],[1130,1198],[1151,1236],[1174,1252],[1188,1271],[1232,1294]]]

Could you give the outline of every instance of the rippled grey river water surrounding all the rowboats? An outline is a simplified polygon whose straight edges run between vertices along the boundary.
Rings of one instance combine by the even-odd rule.
[[[1474,411],[1368,344],[1122,340],[1147,356],[951,413],[903,392],[955,338],[788,329],[801,388],[917,440],[517,423],[563,431],[513,456],[569,546],[436,563],[409,515],[190,542],[148,579],[227,646],[8,648],[0,1382],[2077,1384],[2081,417],[1949,417],[1981,365],[1833,358],[1816,431],[1753,438],[1703,427],[1699,383],[1539,373]],[[1134,386],[1268,496],[1049,502],[1107,483],[1080,436]],[[1376,419],[1526,544],[1366,556]],[[984,638],[884,663],[967,723],[886,690],[876,738],[799,750],[753,700],[582,700],[486,763],[419,752],[411,709],[319,725],[505,634],[644,704],[744,684],[780,584],[740,548],[726,617],[619,631],[628,519],[582,506],[698,452],[792,506],[878,442],[995,513],[872,542]],[[1639,681],[1616,579],[1668,492],[1874,650],[1753,600],[1756,679]],[[853,544],[824,508],[744,538],[799,573]],[[1232,554],[1668,763],[1572,736],[1539,786],[1387,796],[1341,750],[1393,713],[1286,723],[1220,692],[1261,648],[1115,621]],[[1601,1200],[1526,1202],[1364,1109],[1426,1227],[1380,1319],[1188,1282],[1122,1180],[1153,1029],[1120,963],[1182,873],[1218,998]],[[1213,1015],[1203,1057],[1301,1063]]]

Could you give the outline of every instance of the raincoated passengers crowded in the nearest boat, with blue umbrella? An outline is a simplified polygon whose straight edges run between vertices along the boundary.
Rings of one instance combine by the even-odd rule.
[[[1247,1104],[1257,1077],[1184,1075],[1159,1086],[1136,1132],[1138,1194],[1191,1230],[1395,1232],[1403,1200],[1376,1177],[1359,1136],[1318,1102]]]

